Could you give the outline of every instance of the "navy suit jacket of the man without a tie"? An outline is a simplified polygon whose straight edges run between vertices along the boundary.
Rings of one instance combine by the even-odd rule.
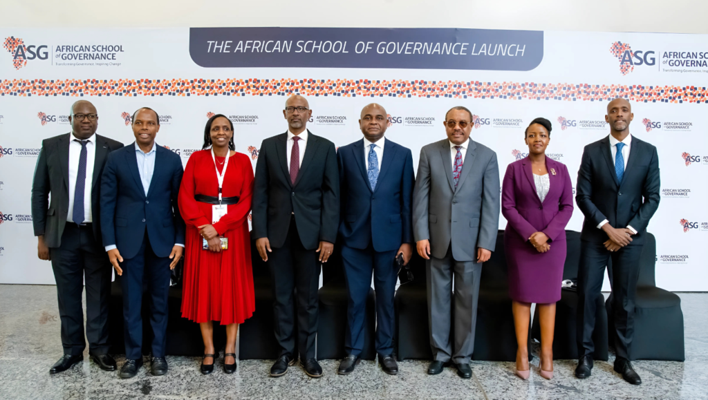
[[[182,182],[180,156],[155,144],[155,169],[145,195],[137,167],[135,142],[108,156],[101,179],[103,246],[118,246],[123,258],[133,258],[147,235],[158,257],[184,244],[185,226],[177,198]]]

